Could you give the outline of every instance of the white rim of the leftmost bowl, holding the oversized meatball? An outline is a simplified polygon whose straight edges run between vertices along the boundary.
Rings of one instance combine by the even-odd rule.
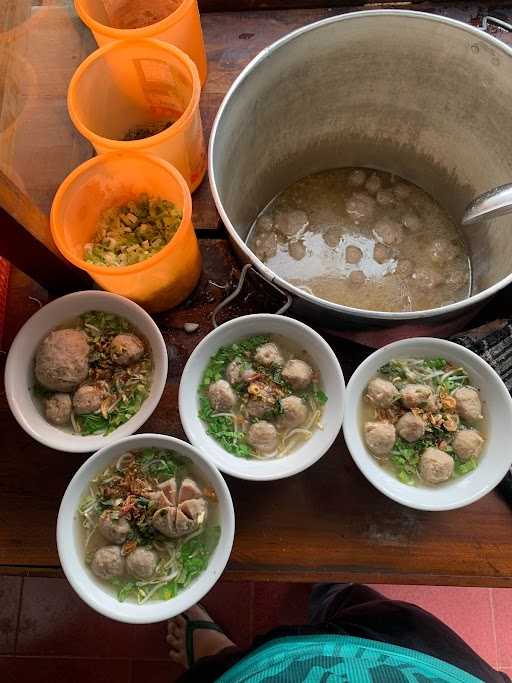
[[[156,355],[158,355],[159,357],[159,360],[161,362],[161,372],[153,372],[150,395],[145,399],[139,411],[123,425],[120,425],[120,427],[114,430],[111,434],[108,434],[107,436],[96,434],[91,436],[79,437],[78,435],[67,434],[67,432],[59,429],[58,427],[54,427],[53,425],[48,423],[48,427],[51,428],[52,431],[55,430],[54,433],[56,434],[56,436],[55,438],[47,437],[44,434],[40,434],[36,429],[34,429],[32,424],[30,423],[30,420],[28,420],[27,417],[19,410],[16,401],[14,400],[14,397],[20,391],[19,380],[17,380],[15,376],[14,367],[16,350],[21,340],[25,337],[25,335],[30,334],[32,329],[37,326],[37,323],[40,320],[44,320],[48,316],[48,313],[57,312],[62,307],[63,302],[70,302],[73,300],[76,300],[77,302],[86,301],[89,298],[98,300],[98,303],[91,304],[91,310],[93,308],[101,309],[101,301],[108,301],[112,303],[113,306],[115,306],[115,304],[121,304],[123,307],[131,311],[133,313],[134,320],[139,319],[144,321],[144,324],[147,325],[148,328],[151,329],[154,334],[155,343],[151,344],[151,350],[153,354],[153,359]],[[122,313],[117,313],[117,315],[123,317]],[[135,327],[137,327],[136,323],[133,324],[135,325]],[[58,323],[49,328],[48,331],[54,329],[57,325]],[[36,350],[36,347],[37,344],[34,345],[34,352]],[[126,425],[129,425],[129,434],[132,434],[149,419],[149,417],[155,411],[160,401],[160,398],[162,397],[163,391],[165,389],[165,383],[167,380],[167,372],[168,357],[165,341],[162,336],[162,333],[158,328],[158,325],[155,323],[155,321],[149,315],[149,313],[147,313],[147,311],[145,311],[141,306],[139,306],[139,304],[135,303],[131,299],[123,297],[119,294],[105,292],[103,290],[81,290],[79,292],[72,292],[71,294],[66,294],[57,299],[54,299],[53,301],[50,301],[49,303],[42,306],[33,315],[31,315],[30,318],[23,324],[23,326],[20,328],[15,338],[13,339],[11,347],[9,349],[9,353],[7,355],[4,371],[4,383],[9,408],[11,409],[11,412],[14,415],[20,427],[29,436],[31,436],[39,443],[43,444],[43,446],[48,446],[49,448],[53,448],[57,451],[69,453],[92,453],[98,448],[106,446],[109,443],[113,443],[117,438],[123,438],[116,435],[116,432],[119,429],[122,429],[123,427],[126,428]],[[30,391],[30,389],[27,388],[27,391]],[[37,410],[35,406],[34,409]],[[66,434],[70,437],[72,436],[72,438],[67,439],[66,445],[64,446],[62,443],[59,443],[61,439],[59,439],[57,433],[61,435],[62,440]]]

